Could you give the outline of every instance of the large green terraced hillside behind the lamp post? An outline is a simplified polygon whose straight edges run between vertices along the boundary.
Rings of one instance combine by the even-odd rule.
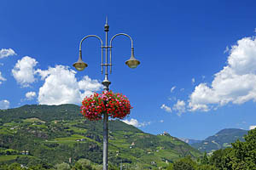
[[[0,111],[0,163],[55,165],[86,158],[101,164],[102,122],[90,122],[79,111],[77,105]],[[128,169],[154,169],[188,155],[201,153],[167,133],[153,135],[118,120],[109,122],[109,163],[114,166],[122,162]]]

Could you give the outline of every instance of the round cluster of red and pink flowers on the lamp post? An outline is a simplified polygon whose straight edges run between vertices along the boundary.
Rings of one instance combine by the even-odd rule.
[[[130,114],[131,109],[130,101],[125,95],[109,91],[84,98],[81,113],[90,121],[101,120],[104,112],[112,118],[123,119]]]

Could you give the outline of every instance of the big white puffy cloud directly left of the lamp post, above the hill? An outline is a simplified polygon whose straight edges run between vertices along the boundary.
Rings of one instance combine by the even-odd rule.
[[[87,76],[78,81],[76,71],[68,66],[56,65],[37,72],[44,80],[38,93],[38,103],[41,105],[80,104],[85,96],[102,89],[100,82]]]

